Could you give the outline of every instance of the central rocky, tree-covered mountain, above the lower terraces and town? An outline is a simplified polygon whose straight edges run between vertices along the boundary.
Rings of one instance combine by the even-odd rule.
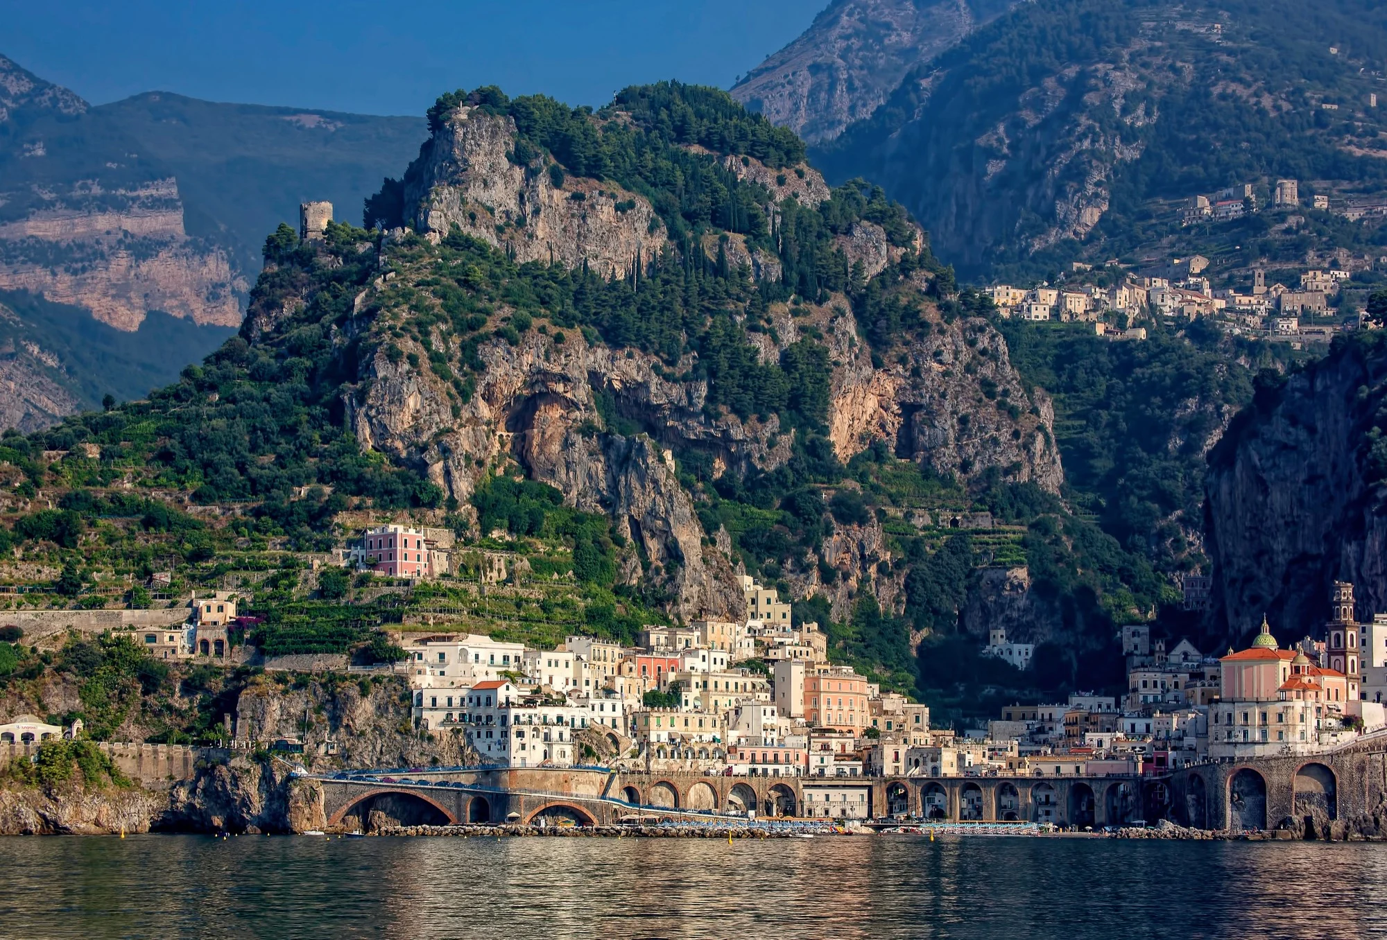
[[[394,227],[282,226],[240,337],[44,446],[119,446],[133,488],[297,545],[372,506],[513,543],[598,632],[739,617],[746,571],[825,621],[878,610],[843,656],[908,688],[904,624],[953,603],[911,573],[964,524],[976,563],[1017,545],[982,534],[988,494],[1054,509],[1064,484],[1049,398],[918,226],[710,89],[598,112],[479,89],[430,119],[369,202]]]

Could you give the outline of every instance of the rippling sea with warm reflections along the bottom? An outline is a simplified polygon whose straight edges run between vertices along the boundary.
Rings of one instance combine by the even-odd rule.
[[[1368,937],[1387,846],[0,839],[12,937]]]

